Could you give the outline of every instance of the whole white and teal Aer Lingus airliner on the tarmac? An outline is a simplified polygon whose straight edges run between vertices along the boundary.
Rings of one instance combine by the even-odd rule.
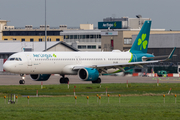
[[[65,75],[78,75],[81,80],[101,83],[100,75],[124,72],[134,66],[156,63],[172,57],[175,48],[165,60],[153,60],[147,54],[151,21],[145,21],[131,49],[127,52],[19,52],[4,63],[5,71],[18,73],[24,84],[24,74],[32,80],[46,81],[51,74],[60,74],[60,83],[68,83]]]

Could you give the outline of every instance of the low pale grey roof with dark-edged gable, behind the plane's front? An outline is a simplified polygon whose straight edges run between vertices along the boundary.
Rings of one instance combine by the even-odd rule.
[[[58,45],[62,44],[65,47],[70,48],[73,51],[78,51],[76,48],[68,45],[65,42],[47,42],[47,50]],[[44,42],[0,42],[0,53],[16,53],[22,52],[24,48],[31,48],[34,51],[45,51]]]

